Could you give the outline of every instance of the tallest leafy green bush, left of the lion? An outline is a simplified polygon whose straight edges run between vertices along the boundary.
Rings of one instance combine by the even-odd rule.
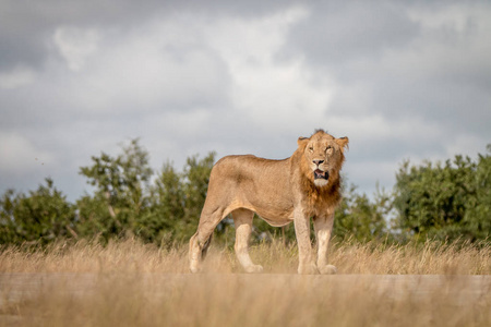
[[[77,202],[80,229],[84,235],[131,234],[139,230],[148,215],[148,183],[153,170],[148,153],[131,141],[116,158],[101,153],[92,157],[93,166],[82,167],[80,173],[96,187],[94,196]]]

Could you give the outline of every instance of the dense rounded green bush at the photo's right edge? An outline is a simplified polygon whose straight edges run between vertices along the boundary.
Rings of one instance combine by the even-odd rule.
[[[488,146],[491,152],[491,148]],[[484,240],[491,231],[491,156],[456,156],[444,165],[403,164],[394,223],[412,238]]]

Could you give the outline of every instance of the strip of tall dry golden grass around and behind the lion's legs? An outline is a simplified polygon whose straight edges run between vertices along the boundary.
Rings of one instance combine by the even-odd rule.
[[[0,253],[0,272],[188,272],[188,247],[158,249],[135,240],[103,246],[81,241],[55,243],[46,249],[7,246]],[[251,257],[265,272],[295,274],[298,252],[282,242],[252,246]],[[339,274],[370,275],[491,275],[491,244],[386,245],[334,242],[330,262]],[[241,272],[232,250],[212,245],[205,261],[207,272]]]

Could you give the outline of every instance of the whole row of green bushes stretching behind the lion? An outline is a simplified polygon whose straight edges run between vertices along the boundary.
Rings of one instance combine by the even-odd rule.
[[[491,146],[488,147],[491,153]],[[56,239],[136,237],[170,249],[195,231],[204,205],[215,153],[189,157],[181,171],[170,162],[154,174],[149,155],[132,140],[117,156],[101,153],[80,173],[94,186],[71,204],[50,179],[26,194],[13,190],[0,198],[0,244],[47,244]],[[359,194],[345,185],[335,213],[337,240],[489,242],[491,230],[491,157],[477,161],[456,156],[444,164],[402,165],[394,191]],[[388,226],[388,221],[392,225]],[[218,240],[231,244],[233,223],[224,219]],[[273,228],[254,219],[253,242],[272,239],[294,243],[295,229]]]

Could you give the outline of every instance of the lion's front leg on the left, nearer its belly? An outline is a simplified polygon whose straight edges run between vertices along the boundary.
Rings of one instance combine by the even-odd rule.
[[[318,274],[312,261],[312,245],[310,244],[310,218],[297,210],[294,216],[295,233],[298,244],[298,274]]]

